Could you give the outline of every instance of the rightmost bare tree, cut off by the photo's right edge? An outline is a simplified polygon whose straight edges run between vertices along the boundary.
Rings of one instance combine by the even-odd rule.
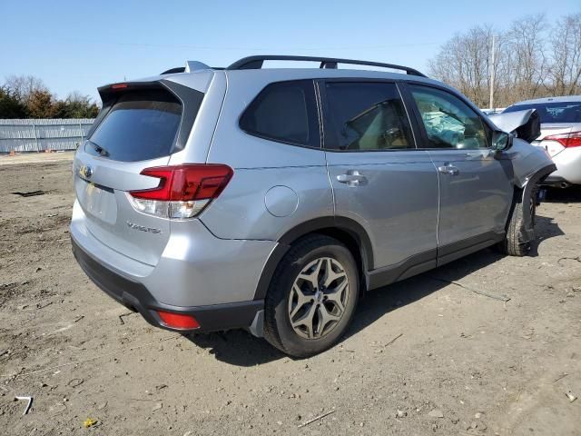
[[[553,93],[578,94],[581,91],[581,14],[566,15],[558,20],[550,45]]]

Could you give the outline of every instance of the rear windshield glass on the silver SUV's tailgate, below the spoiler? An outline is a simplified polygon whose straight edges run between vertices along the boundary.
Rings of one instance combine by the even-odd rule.
[[[182,104],[167,91],[122,94],[84,149],[121,162],[167,156],[172,153],[181,119]]]

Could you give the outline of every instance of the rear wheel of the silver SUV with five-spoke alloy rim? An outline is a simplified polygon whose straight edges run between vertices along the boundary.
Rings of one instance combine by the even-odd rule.
[[[329,349],[347,331],[359,300],[359,272],[349,249],[314,234],[293,244],[272,276],[264,337],[294,357]]]

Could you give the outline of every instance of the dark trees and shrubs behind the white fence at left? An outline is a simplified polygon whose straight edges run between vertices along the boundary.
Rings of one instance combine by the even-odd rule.
[[[73,92],[58,99],[32,75],[11,75],[0,85],[0,119],[94,118],[98,113],[99,106],[88,95]]]

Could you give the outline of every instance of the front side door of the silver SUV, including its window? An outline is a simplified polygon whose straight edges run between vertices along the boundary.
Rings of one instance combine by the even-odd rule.
[[[407,86],[421,147],[438,170],[438,263],[502,239],[514,193],[512,165],[491,148],[492,129],[443,88]]]

